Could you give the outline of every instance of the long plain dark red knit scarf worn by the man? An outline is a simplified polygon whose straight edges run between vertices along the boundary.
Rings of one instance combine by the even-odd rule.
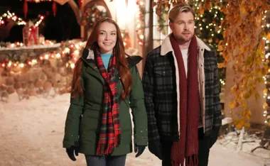
[[[173,143],[171,160],[173,166],[198,165],[198,118],[200,111],[198,89],[197,40],[195,35],[188,48],[188,76],[185,77],[183,57],[173,33],[170,35],[171,45],[178,63],[179,75],[179,109],[180,137]]]

